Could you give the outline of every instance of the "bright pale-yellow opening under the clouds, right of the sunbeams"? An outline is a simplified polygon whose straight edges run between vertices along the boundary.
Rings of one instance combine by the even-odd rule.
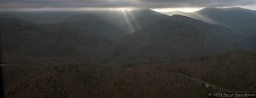
[[[153,8],[152,10],[160,13],[166,13],[166,12],[175,12],[180,11],[184,13],[192,13],[198,10],[201,10],[202,8]]]

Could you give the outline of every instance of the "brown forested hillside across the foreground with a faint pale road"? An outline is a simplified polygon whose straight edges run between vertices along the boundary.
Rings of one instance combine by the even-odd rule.
[[[256,89],[255,52],[108,66],[24,56],[18,63],[19,55],[16,58],[7,55],[9,60],[16,61],[6,62],[8,66],[3,67],[8,98],[205,98],[207,92],[238,93]]]

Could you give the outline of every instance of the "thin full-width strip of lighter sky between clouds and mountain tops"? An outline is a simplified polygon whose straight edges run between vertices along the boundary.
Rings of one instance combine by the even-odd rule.
[[[185,12],[192,13],[199,11],[204,8],[245,8],[248,10],[256,11],[252,8],[246,8],[241,6],[234,7],[201,7],[201,8],[0,8],[2,12],[44,12],[44,11],[119,11],[119,10],[140,10],[140,9],[150,9],[156,12]]]

